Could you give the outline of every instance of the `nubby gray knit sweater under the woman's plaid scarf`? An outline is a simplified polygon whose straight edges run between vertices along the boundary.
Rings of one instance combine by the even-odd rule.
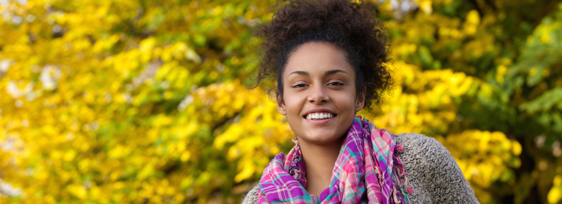
[[[411,203],[478,203],[455,158],[439,141],[409,133],[397,135],[396,144],[404,146],[399,156],[414,190],[408,195]],[[257,186],[251,189],[242,203],[257,203],[257,191]]]

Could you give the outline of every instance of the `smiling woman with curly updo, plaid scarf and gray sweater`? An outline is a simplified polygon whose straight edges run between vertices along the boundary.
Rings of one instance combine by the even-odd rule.
[[[296,145],[275,156],[243,203],[478,203],[437,140],[393,135],[356,116],[393,83],[376,5],[278,2],[262,40],[257,83],[277,79],[278,111]]]

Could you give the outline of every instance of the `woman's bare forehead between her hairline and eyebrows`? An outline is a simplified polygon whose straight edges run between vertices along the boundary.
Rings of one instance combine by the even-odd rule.
[[[286,77],[295,71],[323,75],[325,71],[334,69],[354,74],[345,51],[327,42],[308,42],[299,46],[289,56],[283,75]]]

